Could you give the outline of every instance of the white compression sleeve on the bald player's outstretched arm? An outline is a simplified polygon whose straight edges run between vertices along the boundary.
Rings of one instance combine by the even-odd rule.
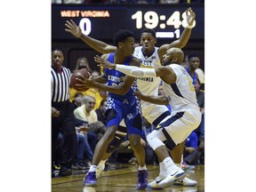
[[[124,66],[116,64],[116,70],[134,77],[156,77],[156,70],[154,68],[138,68],[135,66]]]

